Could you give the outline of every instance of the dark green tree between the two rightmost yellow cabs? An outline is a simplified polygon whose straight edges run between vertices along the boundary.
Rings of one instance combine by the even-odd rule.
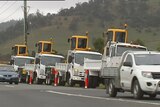
[[[103,53],[104,40],[102,38],[96,38],[93,42],[93,46],[96,51]]]

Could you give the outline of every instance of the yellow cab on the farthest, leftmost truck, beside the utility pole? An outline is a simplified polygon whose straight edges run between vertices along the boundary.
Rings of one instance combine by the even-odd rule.
[[[17,56],[28,56],[28,48],[26,45],[15,45],[12,47],[12,54]]]

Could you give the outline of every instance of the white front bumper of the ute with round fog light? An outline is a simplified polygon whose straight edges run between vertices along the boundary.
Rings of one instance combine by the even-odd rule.
[[[140,80],[141,89],[146,93],[160,93],[160,79]]]

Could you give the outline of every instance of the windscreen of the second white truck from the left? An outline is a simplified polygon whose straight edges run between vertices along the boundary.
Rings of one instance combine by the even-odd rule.
[[[55,66],[56,63],[61,63],[63,58],[53,56],[42,56],[41,64],[46,66]]]

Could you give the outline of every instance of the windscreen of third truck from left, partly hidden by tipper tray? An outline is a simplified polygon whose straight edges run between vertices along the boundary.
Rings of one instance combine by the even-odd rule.
[[[75,63],[83,65],[84,64],[84,58],[100,60],[101,55],[90,54],[90,53],[76,53],[75,54]]]

